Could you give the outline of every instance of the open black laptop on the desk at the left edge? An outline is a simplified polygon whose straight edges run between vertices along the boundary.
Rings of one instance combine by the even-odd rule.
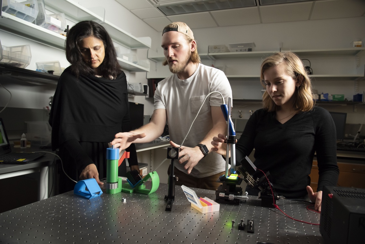
[[[0,164],[26,164],[46,153],[11,152],[11,146],[5,131],[3,119],[0,118]]]

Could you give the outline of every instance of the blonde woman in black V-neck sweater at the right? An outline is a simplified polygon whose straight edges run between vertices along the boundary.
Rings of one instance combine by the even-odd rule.
[[[314,106],[311,80],[300,58],[291,52],[275,53],[261,64],[263,107],[249,118],[236,144],[236,164],[255,149],[257,169],[270,171],[274,191],[286,198],[303,198],[320,211],[323,186],[338,180],[336,130],[327,110]],[[212,150],[226,154],[226,137],[214,137]],[[314,153],[319,180],[317,191],[310,185]],[[257,170],[253,178],[260,178]],[[258,190],[246,188],[250,195]]]

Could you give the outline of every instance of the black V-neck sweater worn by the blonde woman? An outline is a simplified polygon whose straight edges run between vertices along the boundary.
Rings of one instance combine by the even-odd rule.
[[[260,109],[247,121],[236,145],[237,163],[255,148],[254,164],[269,171],[274,189],[287,198],[303,197],[310,185],[314,153],[318,160],[319,181],[323,186],[335,186],[338,180],[336,130],[327,110],[314,107],[300,112],[281,124],[275,112]],[[262,172],[254,175],[261,177]],[[316,191],[316,189],[313,189]]]

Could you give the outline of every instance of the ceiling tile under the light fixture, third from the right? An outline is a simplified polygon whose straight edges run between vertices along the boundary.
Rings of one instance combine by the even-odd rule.
[[[257,7],[212,11],[211,14],[219,26],[260,24]]]

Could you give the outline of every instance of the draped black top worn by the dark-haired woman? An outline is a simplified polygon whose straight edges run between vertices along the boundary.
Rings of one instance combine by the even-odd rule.
[[[49,123],[52,149],[66,147],[82,170],[93,161],[78,142],[111,142],[116,133],[131,130],[126,75],[121,72],[114,80],[91,75],[77,79],[66,69],[57,84]],[[138,165],[134,144],[127,151],[130,165]]]

